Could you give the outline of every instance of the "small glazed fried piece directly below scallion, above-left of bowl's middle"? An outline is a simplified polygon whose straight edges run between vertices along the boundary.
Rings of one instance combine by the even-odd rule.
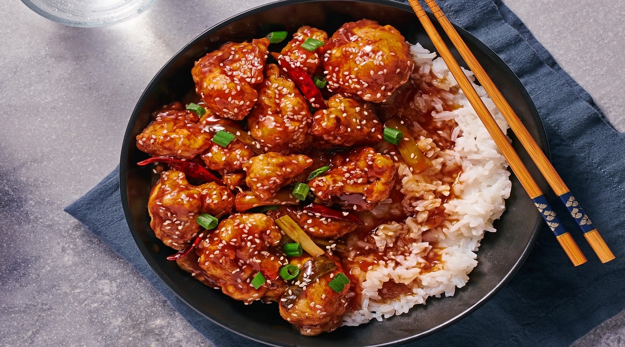
[[[212,143],[201,158],[209,169],[218,172],[234,172],[241,170],[243,164],[252,157],[254,157],[254,150],[251,145],[233,139],[226,147]]]

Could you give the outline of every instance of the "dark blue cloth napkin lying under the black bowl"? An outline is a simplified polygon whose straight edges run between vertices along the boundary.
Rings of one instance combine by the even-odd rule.
[[[574,267],[544,227],[521,269],[491,300],[424,346],[567,346],[625,309],[625,137],[499,0],[438,1],[449,19],[491,47],[517,74],[544,122],[552,163],[612,248],[601,264],[571,218],[562,218],[589,261]],[[552,199],[556,212],[567,212]],[[121,207],[119,170],[66,208],[128,260],[192,326],[217,346],[254,343],[229,333],[180,301],[149,268]],[[106,218],[103,218],[105,217]],[[417,343],[413,343],[417,345]],[[410,344],[409,344],[410,345]]]

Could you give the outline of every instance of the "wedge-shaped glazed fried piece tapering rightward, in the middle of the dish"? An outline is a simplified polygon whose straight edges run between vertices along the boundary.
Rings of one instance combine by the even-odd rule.
[[[273,197],[291,183],[294,177],[312,165],[312,159],[302,154],[281,155],[276,152],[257,155],[243,164],[245,182],[254,196],[261,200]]]

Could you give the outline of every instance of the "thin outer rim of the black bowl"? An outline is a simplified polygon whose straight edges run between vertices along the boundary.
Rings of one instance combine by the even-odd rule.
[[[22,1],[24,1],[24,0],[22,0]],[[331,0],[324,0],[324,2],[329,2],[329,1],[331,1]],[[346,2],[370,2],[370,3],[379,4],[379,5],[383,5],[383,6],[395,7],[396,9],[404,10],[404,11],[407,11],[407,12],[412,12],[412,8],[409,5],[404,4],[402,2],[393,1],[393,0],[342,0],[342,1],[346,1]],[[136,105],[135,105],[135,107],[133,109],[133,113],[131,115],[131,118],[129,119],[128,126],[127,126],[126,132],[124,134],[124,142],[123,142],[122,149],[121,149],[121,157],[120,157],[120,164],[119,164],[119,185],[120,185],[120,193],[121,193],[121,202],[122,202],[122,206],[123,206],[123,209],[124,209],[124,217],[126,218],[126,223],[128,223],[128,227],[129,227],[129,229],[131,231],[131,235],[133,236],[134,242],[138,246],[139,251],[141,252],[141,255],[146,260],[146,262],[148,263],[150,268],[154,271],[154,273],[156,273],[158,278],[161,281],[163,281],[166,284],[166,286],[168,286],[168,288],[171,291],[173,291],[174,295],[176,295],[176,297],[178,297],[179,300],[183,301],[185,305],[191,307],[194,311],[196,311],[200,315],[204,316],[204,318],[207,318],[208,320],[212,321],[213,323],[216,323],[217,325],[221,326],[222,328],[226,328],[227,330],[229,330],[229,331],[231,331],[233,333],[236,333],[239,336],[244,336],[245,338],[248,338],[248,339],[253,340],[253,341],[257,341],[259,343],[263,343],[263,344],[271,345],[271,346],[278,346],[278,347],[279,346],[285,346],[285,345],[278,345],[276,343],[272,343],[271,341],[263,340],[262,338],[260,338],[258,336],[252,336],[252,335],[248,335],[246,333],[242,333],[241,331],[237,331],[237,327],[236,326],[232,326],[232,325],[229,325],[226,322],[219,321],[216,318],[211,317],[209,315],[206,315],[206,313],[197,310],[183,296],[181,296],[178,293],[178,291],[174,290],[176,285],[174,283],[171,283],[171,281],[169,281],[168,276],[166,276],[166,274],[161,270],[161,268],[159,268],[159,266],[156,264],[156,262],[151,259],[151,257],[149,256],[151,251],[148,250],[148,247],[146,247],[146,245],[144,245],[143,241],[141,240],[141,238],[138,235],[137,230],[135,230],[135,228],[134,228],[134,223],[133,223],[133,220],[131,218],[131,213],[129,212],[130,211],[129,201],[128,201],[128,195],[126,194],[126,192],[128,191],[128,185],[126,185],[125,178],[128,175],[128,166],[127,166],[128,165],[128,160],[127,159],[128,159],[129,146],[131,144],[131,140],[133,139],[133,134],[132,134],[132,132],[133,132],[133,125],[134,125],[134,123],[136,122],[136,120],[139,117],[139,112],[141,111],[142,105],[144,104],[146,99],[149,97],[151,92],[153,92],[154,86],[156,85],[156,83],[161,78],[164,77],[164,75],[168,71],[169,67],[175,61],[177,61],[181,56],[183,56],[187,51],[189,51],[189,49],[191,49],[195,44],[197,44],[197,42],[202,41],[203,39],[206,38],[206,36],[211,35],[213,32],[217,31],[218,29],[221,29],[221,27],[227,26],[228,24],[231,24],[232,22],[239,21],[240,19],[243,19],[244,17],[251,16],[252,14],[256,14],[256,13],[259,13],[259,12],[264,12],[264,11],[267,11],[267,10],[270,10],[270,9],[273,9],[273,8],[276,8],[276,7],[288,6],[288,5],[293,5],[293,4],[301,4],[301,3],[306,3],[306,2],[320,2],[320,1],[317,1],[317,0],[279,0],[279,1],[275,1],[275,2],[270,2],[268,4],[263,4],[261,6],[256,6],[256,7],[253,7],[251,9],[247,9],[246,11],[239,12],[238,14],[225,19],[224,21],[218,22],[217,24],[215,24],[214,26],[209,27],[208,29],[203,31],[201,34],[199,34],[196,37],[194,37],[194,39],[189,41],[187,44],[185,44],[183,46],[183,48],[181,48],[178,52],[176,52],[176,54],[174,54],[163,65],[163,67],[161,67],[161,69],[159,69],[159,71],[154,75],[154,77],[151,79],[151,81],[148,83],[148,85],[144,89],[143,93],[141,94],[141,97],[139,97],[139,100],[138,100],[138,102],[136,103]],[[426,11],[426,12],[427,12],[427,15],[430,16],[432,20],[434,20],[434,16],[431,14],[431,12],[429,12],[429,11]],[[415,17],[415,20],[416,20],[416,17]],[[436,21],[434,21],[434,22],[436,22]],[[541,118],[539,116],[539,113],[538,113],[538,111],[536,109],[536,105],[532,101],[531,97],[529,96],[529,93],[527,92],[527,90],[525,89],[525,87],[523,86],[523,84],[521,83],[519,78],[512,71],[512,69],[506,64],[506,62],[504,62],[501,57],[497,56],[497,54],[494,51],[492,51],[492,49],[490,47],[486,46],[486,44],[484,44],[483,42],[479,41],[479,39],[474,37],[468,31],[462,29],[461,27],[458,27],[455,24],[454,24],[454,27],[461,34],[462,37],[465,37],[465,39],[468,38],[469,41],[471,41],[471,44],[474,44],[475,46],[479,47],[479,49],[483,53],[485,53],[487,56],[489,56],[490,59],[492,59],[493,61],[497,62],[497,64],[502,68],[502,72],[504,72],[506,77],[512,82],[512,84],[514,84],[514,87],[516,87],[516,89],[519,90],[519,92],[521,93],[521,96],[522,96],[524,102],[527,104],[527,106],[531,110],[531,117],[536,122],[536,128],[537,128],[536,131],[539,134],[539,138],[536,139],[536,142],[539,144],[539,146],[541,147],[541,149],[543,150],[543,152],[547,156],[547,159],[550,159],[551,155],[550,155],[549,146],[548,146],[548,143],[547,143],[547,140],[546,140],[547,137],[546,137],[546,132],[544,130],[544,124],[542,123],[542,120],[541,120]],[[444,35],[444,33],[442,33],[442,35]],[[510,135],[510,134],[511,133],[509,133],[508,135]],[[539,183],[539,186],[540,185],[541,185],[541,183]],[[547,196],[547,198],[549,198],[549,196],[551,195],[551,188],[548,187],[548,185],[546,185],[546,183],[543,183],[541,188],[542,188],[543,192],[545,193],[545,195]],[[421,333],[417,333],[416,335],[408,336],[406,338],[401,338],[399,340],[393,340],[393,341],[389,341],[387,343],[381,343],[381,344],[377,344],[377,345],[367,345],[367,346],[370,346],[370,347],[394,346],[394,345],[400,345],[402,343],[407,343],[409,341],[414,341],[414,340],[417,340],[419,338],[423,338],[424,336],[431,335],[432,333],[436,333],[437,331],[441,331],[444,328],[447,328],[447,326],[450,326],[450,325],[456,323],[457,321],[461,320],[462,318],[466,317],[472,311],[477,310],[477,308],[479,308],[484,303],[486,303],[486,301],[490,300],[492,298],[492,296],[494,296],[497,293],[497,291],[501,290],[501,288],[504,285],[506,285],[506,283],[509,280],[511,280],[512,276],[514,276],[516,271],[519,270],[521,265],[526,260],[527,255],[529,255],[529,253],[531,252],[532,247],[534,246],[534,243],[536,243],[537,237],[539,235],[539,232],[540,232],[543,224],[544,224],[544,221],[542,220],[542,218],[539,215],[537,215],[537,220],[536,220],[536,223],[535,223],[534,228],[532,230],[531,237],[530,237],[529,242],[527,243],[527,245],[522,250],[521,257],[519,257],[519,259],[516,260],[516,262],[514,263],[512,268],[509,271],[506,272],[506,274],[501,278],[501,280],[497,283],[497,285],[495,285],[492,288],[491,291],[488,291],[486,293],[486,295],[482,296],[480,300],[477,300],[471,306],[466,308],[466,310],[463,310],[461,313],[458,313],[453,318],[445,321],[444,323],[441,323],[441,324],[437,325],[436,327],[434,327],[434,328],[432,328],[430,330],[422,331]]]

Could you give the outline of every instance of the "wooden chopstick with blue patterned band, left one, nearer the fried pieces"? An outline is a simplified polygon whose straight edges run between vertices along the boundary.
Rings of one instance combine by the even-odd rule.
[[[491,135],[499,150],[501,150],[501,154],[504,155],[508,164],[517,178],[519,178],[519,182],[523,188],[525,188],[527,194],[536,205],[536,208],[540,212],[542,218],[544,218],[551,231],[556,235],[557,241],[560,243],[564,253],[569,257],[574,266],[581,265],[586,262],[586,257],[581,252],[577,243],[571,237],[571,234],[566,231],[562,223],[556,217],[556,213],[553,211],[553,208],[549,206],[547,202],[547,198],[542,193],[541,189],[534,181],[534,178],[531,177],[527,168],[519,158],[519,155],[514,151],[512,145],[507,141],[506,135],[499,129],[497,122],[492,118],[491,113],[487,109],[484,102],[480,99],[479,95],[477,95],[476,90],[471,85],[469,79],[464,75],[461,67],[458,62],[452,56],[449,48],[442,41],[441,35],[438,33],[432,21],[427,17],[426,12],[423,10],[418,0],[409,0],[412,9],[417,14],[419,21],[427,32],[427,36],[432,40],[434,47],[438,51],[438,54],[442,57],[442,59],[447,64],[449,71],[452,76],[456,79],[456,82],[466,95],[467,99],[476,110],[476,113],[479,119],[482,121],[486,130]]]

